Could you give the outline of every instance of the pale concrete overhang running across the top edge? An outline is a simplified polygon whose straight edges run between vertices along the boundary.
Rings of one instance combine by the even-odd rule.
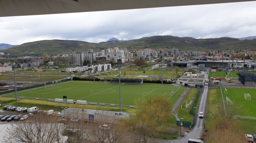
[[[0,17],[235,3],[255,0],[0,0]]]

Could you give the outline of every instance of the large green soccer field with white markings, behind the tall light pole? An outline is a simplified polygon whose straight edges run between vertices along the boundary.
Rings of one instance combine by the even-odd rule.
[[[170,84],[121,84],[122,105],[133,105],[135,100],[144,100],[163,96],[175,104],[186,87],[175,87]],[[175,94],[176,92],[176,94]],[[15,93],[8,95],[15,96]],[[17,93],[17,96],[25,98],[55,99],[67,96],[67,99],[86,100],[105,104],[119,104],[119,84],[109,82],[93,81],[68,81],[53,84],[48,88],[37,88],[24,90]]]

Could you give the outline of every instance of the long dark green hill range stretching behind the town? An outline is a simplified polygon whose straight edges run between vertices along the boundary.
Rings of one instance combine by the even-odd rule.
[[[135,50],[144,48],[177,48],[182,51],[256,50],[256,39],[241,40],[230,37],[195,39],[192,37],[151,36],[144,37],[141,39],[125,41],[111,40],[110,42],[99,43],[55,39],[28,42],[12,48],[0,50],[0,52],[10,53],[10,55],[17,56],[41,54],[55,55],[65,53],[87,52],[88,49],[93,49],[97,52],[102,49],[114,47],[128,48],[128,50],[134,50],[134,48]]]

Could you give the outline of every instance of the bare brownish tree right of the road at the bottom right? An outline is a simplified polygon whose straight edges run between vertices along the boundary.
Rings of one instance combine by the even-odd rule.
[[[234,119],[238,115],[240,107],[218,103],[216,107],[209,109],[209,118],[213,118],[213,126],[205,140],[209,143],[243,143],[244,133],[240,130],[239,121]]]

